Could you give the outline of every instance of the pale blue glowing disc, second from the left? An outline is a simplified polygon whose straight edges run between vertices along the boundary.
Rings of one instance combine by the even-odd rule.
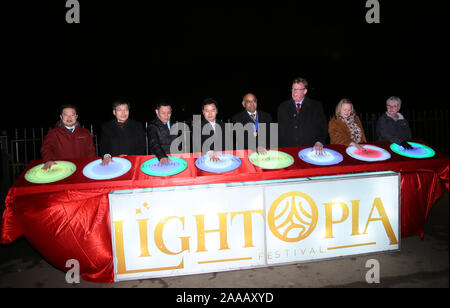
[[[102,160],[97,159],[83,168],[85,177],[92,180],[110,180],[124,175],[131,169],[131,162],[122,157],[113,157],[107,165],[102,165]]]

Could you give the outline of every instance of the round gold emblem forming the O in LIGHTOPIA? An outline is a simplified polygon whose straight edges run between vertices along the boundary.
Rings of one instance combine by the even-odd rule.
[[[315,229],[318,220],[314,200],[298,191],[279,196],[271,205],[267,215],[273,235],[284,242],[299,242]]]

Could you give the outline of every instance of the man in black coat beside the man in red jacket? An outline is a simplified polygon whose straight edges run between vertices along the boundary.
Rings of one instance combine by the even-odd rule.
[[[130,102],[119,99],[113,103],[114,119],[104,123],[100,133],[100,155],[103,164],[112,156],[145,155],[145,133],[142,124],[130,119]]]

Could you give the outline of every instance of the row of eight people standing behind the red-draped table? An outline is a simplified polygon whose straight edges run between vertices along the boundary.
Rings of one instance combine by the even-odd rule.
[[[340,100],[335,115],[327,125],[322,104],[309,98],[307,92],[308,82],[297,78],[292,82],[291,99],[278,106],[278,147],[311,146],[320,155],[324,153],[323,147],[329,134],[331,144],[364,150],[361,144],[366,143],[367,139],[352,102],[346,98]],[[248,132],[239,148],[254,148],[264,153],[270,143],[272,116],[258,109],[257,98],[252,93],[244,95],[242,106],[244,110],[234,115],[232,122],[249,124],[252,132]],[[101,127],[98,154],[102,157],[102,163],[108,164],[113,156],[145,155],[147,146],[149,153],[155,155],[160,163],[167,163],[168,154],[172,152],[171,145],[177,137],[170,133],[171,126],[175,124],[171,119],[170,102],[157,103],[156,117],[147,127],[148,145],[143,125],[130,118],[130,107],[127,100],[116,100],[112,105],[114,117]],[[411,130],[408,121],[399,112],[400,107],[400,98],[392,96],[387,100],[387,112],[377,121],[377,140],[395,142],[409,148],[406,141],[411,138]],[[45,136],[41,147],[44,169],[50,168],[57,159],[97,156],[91,133],[78,122],[76,106],[63,105],[60,111],[60,121]],[[219,106],[214,99],[203,101],[200,140],[202,151],[211,160],[218,160],[217,151],[225,149],[227,130],[225,124],[217,119],[218,112]],[[263,142],[258,138],[261,133],[265,136]],[[211,137],[218,137],[220,142],[210,142],[214,139]]]

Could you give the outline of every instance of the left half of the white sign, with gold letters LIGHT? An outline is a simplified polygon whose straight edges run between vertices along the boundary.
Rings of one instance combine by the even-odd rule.
[[[265,265],[263,187],[109,197],[116,279]]]

